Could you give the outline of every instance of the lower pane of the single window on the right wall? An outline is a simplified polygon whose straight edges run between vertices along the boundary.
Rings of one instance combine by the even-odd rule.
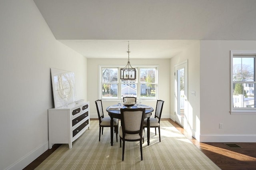
[[[233,107],[255,107],[254,89],[256,83],[233,83]]]

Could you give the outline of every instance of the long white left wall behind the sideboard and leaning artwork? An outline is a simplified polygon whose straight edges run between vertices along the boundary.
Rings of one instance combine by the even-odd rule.
[[[56,41],[32,0],[0,1],[0,169],[22,169],[48,149],[50,67],[75,73],[86,99],[87,60]]]

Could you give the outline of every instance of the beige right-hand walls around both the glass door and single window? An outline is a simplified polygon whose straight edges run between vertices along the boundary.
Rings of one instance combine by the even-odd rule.
[[[188,59],[186,130],[200,142],[256,142],[256,115],[229,113],[230,50],[256,50],[256,41],[198,41],[170,60],[174,72],[174,65]],[[170,80],[170,118],[175,120],[173,74]]]

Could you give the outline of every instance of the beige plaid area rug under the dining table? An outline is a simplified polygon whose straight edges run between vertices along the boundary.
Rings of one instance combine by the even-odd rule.
[[[120,125],[120,124],[119,124]],[[146,128],[145,128],[146,131]],[[158,130],[157,130],[158,131]],[[146,132],[145,132],[146,134]],[[126,142],[124,161],[120,141],[110,144],[110,128],[104,128],[99,142],[98,121],[86,130],[69,149],[62,144],[36,170],[219,170],[206,155],[168,121],[161,121],[161,142],[150,129],[150,145],[145,135],[140,160],[140,143]]]

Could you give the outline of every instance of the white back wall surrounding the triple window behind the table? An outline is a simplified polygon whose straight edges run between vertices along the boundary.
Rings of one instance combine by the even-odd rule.
[[[87,99],[91,103],[90,118],[98,118],[95,102],[99,99],[99,65],[116,65],[125,66],[127,59],[87,59],[88,68],[88,93]],[[162,110],[162,118],[170,118],[170,59],[132,59],[130,58],[132,66],[136,65],[158,65],[158,99],[164,101],[164,107]],[[102,101],[103,109],[110,105],[117,104],[116,101]],[[156,100],[143,101],[142,104],[150,105],[154,109],[156,107]],[[105,114],[106,111],[105,111]]]

